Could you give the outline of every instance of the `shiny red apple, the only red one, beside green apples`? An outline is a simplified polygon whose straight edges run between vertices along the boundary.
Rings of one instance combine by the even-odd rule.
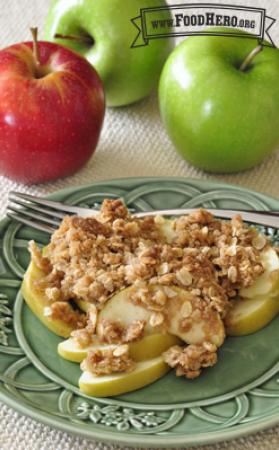
[[[49,42],[38,47],[39,69],[30,42],[0,51],[0,174],[27,184],[79,170],[96,148],[105,108],[101,80],[84,58]]]

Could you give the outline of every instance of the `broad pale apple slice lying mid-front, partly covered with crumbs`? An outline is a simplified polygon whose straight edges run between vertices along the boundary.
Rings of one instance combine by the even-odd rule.
[[[159,286],[150,287],[158,289]],[[193,320],[187,331],[183,331],[180,326],[181,319],[185,315],[185,306],[188,306],[191,313],[195,313],[193,296],[186,290],[171,286],[174,296],[168,300],[165,308],[167,317],[166,323],[161,327],[154,327],[150,324],[152,311],[142,305],[136,305],[130,299],[133,287],[124,289],[113,296],[104,306],[99,314],[97,322],[97,335],[101,335],[102,323],[104,321],[119,321],[121,325],[127,327],[135,320],[145,320],[145,334],[154,334],[155,332],[167,332],[173,334],[188,344],[200,344],[205,340],[220,346],[224,342],[225,331],[223,322],[216,311],[211,311],[208,316]],[[176,294],[176,295],[175,295]],[[197,312],[197,311],[196,311]]]

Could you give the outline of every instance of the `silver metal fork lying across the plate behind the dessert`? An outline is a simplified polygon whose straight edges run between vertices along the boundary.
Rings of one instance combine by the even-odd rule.
[[[82,208],[80,206],[66,205],[61,202],[35,197],[33,195],[22,194],[20,192],[10,192],[7,216],[24,225],[28,225],[46,233],[53,233],[60,225],[66,215],[78,215],[81,217],[96,216],[97,209]],[[133,213],[136,218],[148,216],[181,216],[187,215],[197,208],[166,209]],[[236,214],[241,214],[244,221],[264,225],[266,227],[279,228],[279,211],[247,211],[233,209],[207,209],[216,217],[230,219]]]

